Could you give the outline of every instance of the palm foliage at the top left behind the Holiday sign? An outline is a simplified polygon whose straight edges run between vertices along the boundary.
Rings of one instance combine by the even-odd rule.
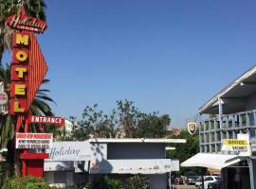
[[[11,15],[19,14],[22,4],[27,15],[46,20],[44,0],[0,0],[0,61],[4,51],[11,49],[13,30],[6,24],[6,19]]]

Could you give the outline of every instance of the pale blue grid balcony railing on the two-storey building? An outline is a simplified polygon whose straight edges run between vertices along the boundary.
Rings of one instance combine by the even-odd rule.
[[[213,115],[199,121],[199,143],[201,152],[218,153],[223,139],[236,139],[237,133],[250,134],[250,142],[256,144],[256,110],[232,114]]]

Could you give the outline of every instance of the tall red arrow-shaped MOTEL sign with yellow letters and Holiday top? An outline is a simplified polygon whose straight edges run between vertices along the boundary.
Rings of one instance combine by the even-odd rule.
[[[11,62],[10,114],[17,115],[16,131],[28,116],[29,107],[46,76],[46,60],[34,33],[46,30],[46,22],[27,16],[22,8],[21,15],[12,15],[7,24],[13,32]]]

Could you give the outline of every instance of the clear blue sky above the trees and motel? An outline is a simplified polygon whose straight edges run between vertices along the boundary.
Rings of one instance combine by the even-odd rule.
[[[74,2],[74,3],[72,3]],[[56,114],[129,99],[172,127],[256,62],[252,0],[46,0],[39,36]]]

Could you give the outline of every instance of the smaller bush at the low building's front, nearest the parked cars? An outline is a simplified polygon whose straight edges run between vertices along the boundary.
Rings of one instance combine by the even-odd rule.
[[[128,179],[129,189],[150,189],[150,180],[142,175],[135,175]]]

